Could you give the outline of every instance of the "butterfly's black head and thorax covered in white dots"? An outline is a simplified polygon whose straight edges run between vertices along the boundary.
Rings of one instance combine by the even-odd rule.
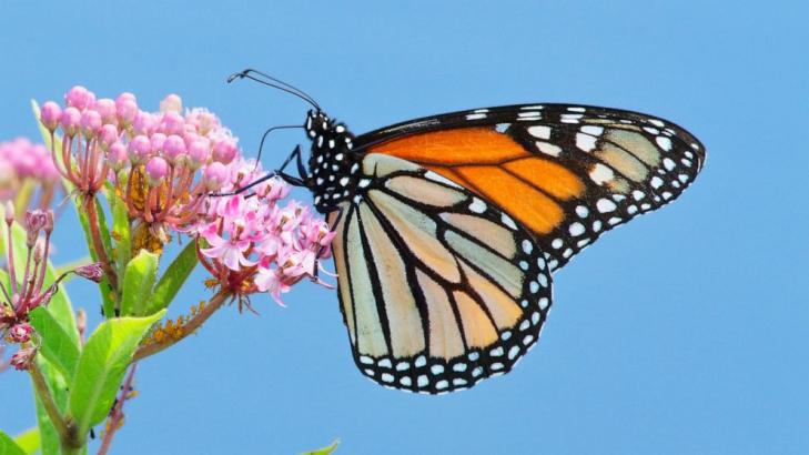
[[[352,151],[354,135],[321,111],[309,112],[305,128],[312,141],[306,181],[317,211],[328,213],[356,193],[360,158]]]

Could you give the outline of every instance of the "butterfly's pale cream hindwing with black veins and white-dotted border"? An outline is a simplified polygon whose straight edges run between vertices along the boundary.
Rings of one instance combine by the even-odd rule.
[[[422,393],[508,372],[550,307],[550,275],[530,234],[421,165],[372,153],[361,171],[360,193],[330,215],[360,370]]]

